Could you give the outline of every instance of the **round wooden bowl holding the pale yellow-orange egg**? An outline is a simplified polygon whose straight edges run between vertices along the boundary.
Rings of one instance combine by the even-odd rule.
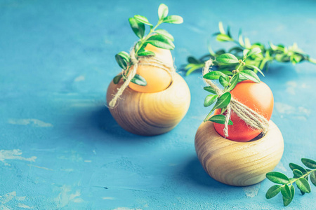
[[[107,88],[107,104],[123,81]],[[113,118],[124,130],[133,134],[152,136],[169,132],[187,113],[191,101],[185,80],[174,73],[173,82],[162,92],[136,92],[127,87],[117,106],[110,109]]]

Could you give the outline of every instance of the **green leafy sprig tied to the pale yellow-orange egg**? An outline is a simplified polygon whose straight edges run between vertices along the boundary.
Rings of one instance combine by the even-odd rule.
[[[133,51],[135,53],[136,59],[138,57],[150,57],[154,56],[154,52],[150,50],[145,50],[147,44],[154,45],[157,48],[162,48],[166,50],[173,50],[175,48],[173,41],[174,38],[168,31],[164,29],[157,29],[159,25],[162,23],[170,23],[170,24],[181,24],[183,22],[183,18],[178,15],[169,15],[169,8],[164,3],[160,4],[158,8],[158,22],[157,25],[152,25],[146,17],[142,15],[134,15],[133,18],[129,18],[129,25],[131,25],[131,29],[133,30],[134,34],[140,38],[136,43]],[[148,34],[145,34],[145,25],[150,27],[150,31]],[[123,73],[115,76],[113,78],[113,83],[119,83],[121,78],[126,79],[127,75],[129,74],[129,69],[133,65],[131,57],[129,53],[121,51],[115,55],[115,59],[117,60],[117,64],[124,70]],[[147,82],[145,78],[136,74],[134,78],[131,80],[132,83],[137,85],[145,86]]]

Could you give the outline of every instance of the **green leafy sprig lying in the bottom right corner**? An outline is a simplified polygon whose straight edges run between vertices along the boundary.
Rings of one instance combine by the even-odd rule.
[[[310,183],[308,182],[308,176],[312,184],[316,186],[316,161],[307,158],[302,158],[301,161],[303,162],[303,165],[305,165],[309,169],[305,169],[300,165],[290,163],[289,167],[293,171],[294,178],[288,178],[287,175],[280,172],[269,172],[266,174],[266,177],[270,181],[272,181],[273,183],[277,183],[277,185],[269,188],[269,190],[265,194],[265,197],[267,199],[275,197],[275,195],[281,192],[283,197],[283,204],[286,207],[294,198],[294,183],[296,183],[296,186],[298,190],[301,191],[302,195],[304,195],[305,193],[310,193],[311,188]]]

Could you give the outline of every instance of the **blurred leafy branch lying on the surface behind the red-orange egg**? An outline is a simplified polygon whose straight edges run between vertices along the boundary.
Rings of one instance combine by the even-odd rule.
[[[253,48],[260,48],[261,53],[258,53],[253,56],[247,57],[245,60],[247,65],[256,66],[258,69],[268,69],[268,66],[273,61],[277,62],[291,62],[292,64],[298,64],[303,61],[308,61],[313,64],[316,64],[316,59],[310,58],[303,50],[298,48],[298,45],[294,43],[293,45],[286,47],[282,44],[274,45],[269,42],[268,48],[263,45],[263,43],[253,43],[251,44],[249,38],[243,38],[242,29],[239,30],[238,39],[232,37],[230,33],[230,27],[228,26],[227,31],[223,27],[223,23],[219,22],[218,24],[219,31],[213,34],[216,36],[216,40],[220,42],[230,42],[235,43],[236,45],[228,50],[229,53],[232,53],[238,59],[242,59],[242,52],[247,49],[251,50]],[[187,71],[186,75],[189,75],[197,69],[202,69],[204,62],[209,59],[215,59],[216,57],[226,53],[224,49],[217,50],[213,52],[211,46],[209,46],[209,53],[200,57],[199,59],[195,57],[187,57],[188,64],[185,66]],[[215,64],[220,70],[229,70],[236,69],[236,64],[231,65],[221,65]],[[249,69],[248,66],[244,66],[242,69]],[[255,71],[256,72],[256,71]]]

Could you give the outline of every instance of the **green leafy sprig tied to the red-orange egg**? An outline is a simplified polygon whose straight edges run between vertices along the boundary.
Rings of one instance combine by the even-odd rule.
[[[204,90],[211,92],[213,94],[209,94],[206,96],[204,100],[204,107],[211,106],[213,103],[216,102],[216,104],[213,106],[213,109],[209,112],[209,114],[204,119],[204,122],[206,121],[212,121],[214,123],[220,123],[225,124],[225,116],[223,116],[223,113],[226,111],[228,104],[230,104],[230,99],[232,98],[230,91],[235,88],[237,83],[243,81],[243,80],[252,80],[255,83],[260,83],[260,78],[258,78],[257,74],[254,71],[260,72],[263,76],[263,72],[258,69],[258,67],[253,65],[247,65],[245,63],[245,60],[248,57],[257,55],[258,53],[261,53],[260,48],[252,48],[251,50],[245,49],[243,51],[243,57],[242,59],[237,59],[235,55],[232,55],[230,53],[224,53],[222,55],[219,55],[216,57],[217,64],[220,65],[235,65],[237,66],[236,69],[229,71],[229,70],[218,70],[218,71],[210,71],[209,73],[206,73],[203,78],[208,80],[218,80],[220,85],[223,86],[223,94],[221,96],[218,96],[216,90],[213,89],[211,86],[204,87]],[[242,67],[246,66],[249,69],[242,70]],[[211,116],[211,113],[215,109],[221,109],[220,115]],[[229,120],[228,125],[232,125],[232,121]]]

